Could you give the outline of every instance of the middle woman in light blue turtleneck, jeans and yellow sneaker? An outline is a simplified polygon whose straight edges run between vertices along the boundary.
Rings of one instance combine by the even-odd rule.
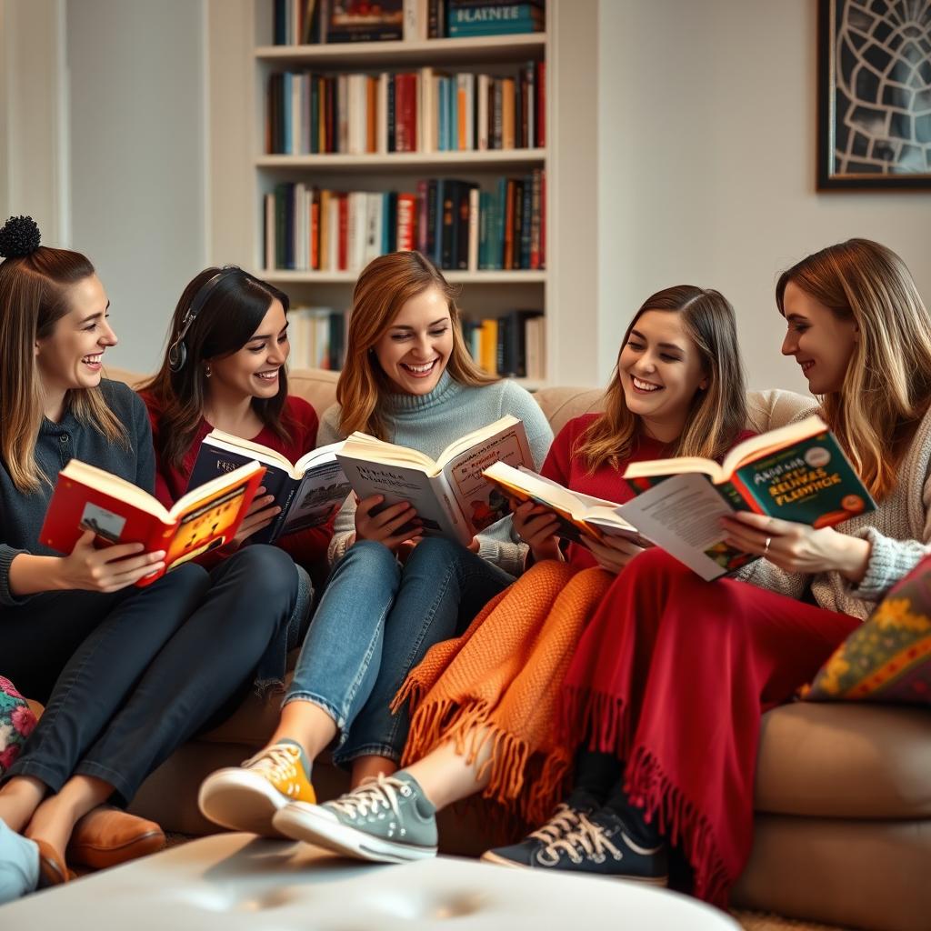
[[[453,290],[419,252],[375,259],[353,295],[339,403],[318,441],[361,430],[436,457],[452,441],[505,414],[523,422],[539,468],[553,439],[519,385],[479,371],[466,352]],[[350,498],[336,519],[333,569],[269,744],[200,789],[200,809],[234,830],[274,835],[272,816],[314,802],[310,763],[337,739],[335,762],[354,785],[390,774],[408,715],[389,706],[434,643],[465,630],[523,568],[527,546],[509,518],[470,546],[418,536],[409,504]]]

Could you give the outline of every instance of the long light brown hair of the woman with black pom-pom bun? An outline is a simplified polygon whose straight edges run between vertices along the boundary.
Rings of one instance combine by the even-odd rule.
[[[0,263],[0,455],[23,493],[49,480],[34,456],[45,410],[35,342],[49,336],[71,309],[71,287],[93,274],[80,252],[47,246]],[[79,421],[128,447],[126,430],[99,387],[72,389],[65,404]]]

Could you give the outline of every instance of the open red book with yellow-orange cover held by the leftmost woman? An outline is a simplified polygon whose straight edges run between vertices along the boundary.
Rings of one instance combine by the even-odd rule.
[[[187,492],[166,508],[148,492],[97,466],[72,459],[59,473],[39,540],[70,553],[92,530],[103,546],[142,543],[166,551],[166,569],[136,583],[146,586],[170,569],[233,539],[262,482],[254,460]]]

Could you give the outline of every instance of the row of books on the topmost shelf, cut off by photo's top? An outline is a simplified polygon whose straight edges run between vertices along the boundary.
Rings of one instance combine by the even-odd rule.
[[[277,46],[537,33],[545,0],[275,0]]]

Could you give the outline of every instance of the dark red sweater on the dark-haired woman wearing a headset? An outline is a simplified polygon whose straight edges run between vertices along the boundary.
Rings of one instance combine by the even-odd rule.
[[[152,437],[157,444],[161,409],[155,402],[155,398],[148,392],[142,392],[142,400],[149,411]],[[261,443],[270,450],[280,452],[289,462],[294,463],[305,452],[309,452],[314,448],[317,439],[317,412],[304,398],[289,395],[285,399],[282,421],[288,427],[290,440],[281,439],[267,426],[263,426],[250,439],[253,443]],[[172,506],[187,491],[187,483],[191,479],[191,471],[196,463],[200,444],[211,429],[212,427],[207,420],[201,417],[194,438],[191,440],[191,445],[188,451],[184,453],[180,468],[169,466],[162,456],[158,455],[158,453],[155,454],[155,497],[164,506]],[[330,544],[331,535],[332,528],[331,524],[328,523],[323,527],[309,527],[307,530],[279,537],[275,545],[280,546],[295,562],[309,567],[324,558],[327,546]],[[226,549],[214,550],[211,553],[204,554],[197,561],[208,568],[212,568],[222,561],[224,556],[228,555],[229,551]]]

